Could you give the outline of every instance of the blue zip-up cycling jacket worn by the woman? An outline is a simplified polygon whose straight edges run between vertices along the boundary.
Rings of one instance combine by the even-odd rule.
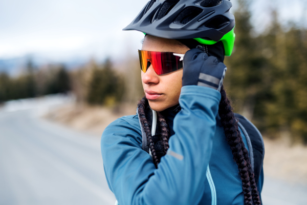
[[[120,205],[244,204],[242,180],[217,114],[220,99],[211,88],[182,87],[182,110],[168,116],[168,121],[174,117],[169,123],[173,135],[158,169],[142,150],[138,115],[121,117],[104,130],[104,172]],[[259,193],[263,177],[262,170]]]

